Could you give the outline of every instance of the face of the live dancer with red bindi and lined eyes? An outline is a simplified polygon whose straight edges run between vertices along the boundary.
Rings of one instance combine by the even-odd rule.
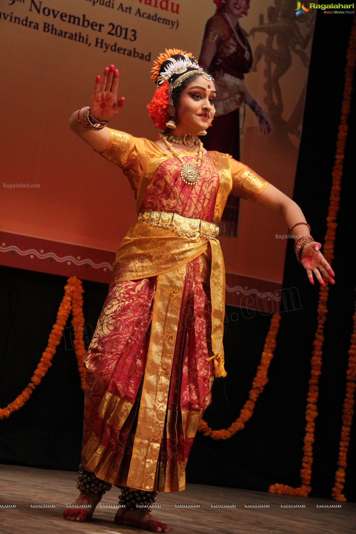
[[[215,113],[215,85],[203,76],[194,78],[181,92],[175,122],[179,130],[193,133],[206,130]]]

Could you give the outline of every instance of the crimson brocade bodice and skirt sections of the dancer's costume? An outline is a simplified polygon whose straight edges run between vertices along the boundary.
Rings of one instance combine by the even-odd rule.
[[[185,155],[184,160],[195,165],[196,158]],[[180,169],[177,159],[163,160],[149,181],[141,211],[169,211],[212,222],[219,189],[214,163],[209,155],[203,156],[201,179],[193,187],[184,184]],[[142,420],[139,410],[157,277],[110,284],[84,358],[87,382],[82,461],[102,480],[143,490],[185,488],[188,454],[197,425],[211,402],[213,366],[207,361],[212,354],[211,302],[209,286],[204,283],[209,280],[209,260],[208,248],[184,265],[183,288],[179,298],[173,295],[177,297],[177,332],[172,335],[171,348],[169,336],[163,341],[163,350],[171,350],[172,358],[155,386],[156,390],[167,386],[168,394],[160,397],[156,391],[156,400],[153,402],[152,397],[150,405],[145,391],[151,415]],[[162,423],[162,418],[160,435],[156,422]],[[135,448],[138,432],[146,442],[146,453]],[[136,479],[139,484],[135,483],[137,466],[143,466]]]

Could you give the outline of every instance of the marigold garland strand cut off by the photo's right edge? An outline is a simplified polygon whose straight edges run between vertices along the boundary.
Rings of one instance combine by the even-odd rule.
[[[356,305],[353,315],[353,332],[351,335],[349,361],[346,372],[346,393],[343,406],[342,428],[339,444],[339,457],[337,461],[338,469],[335,473],[335,485],[331,496],[337,501],[345,501],[346,498],[342,493],[345,484],[345,471],[347,467],[347,451],[350,444],[350,431],[353,416],[354,392],[356,382]]]

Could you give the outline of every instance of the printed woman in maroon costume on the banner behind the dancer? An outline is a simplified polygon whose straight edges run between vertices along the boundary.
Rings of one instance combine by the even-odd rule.
[[[239,19],[248,14],[249,0],[215,0],[214,3],[217,10],[205,26],[199,58],[200,65],[213,75],[218,90],[215,123],[204,145],[208,150],[227,152],[239,160],[244,105],[252,109],[262,132],[270,133],[271,125],[244,84],[244,75],[252,67],[252,51]],[[239,199],[229,199],[221,219],[221,235],[236,237],[238,216]]]

